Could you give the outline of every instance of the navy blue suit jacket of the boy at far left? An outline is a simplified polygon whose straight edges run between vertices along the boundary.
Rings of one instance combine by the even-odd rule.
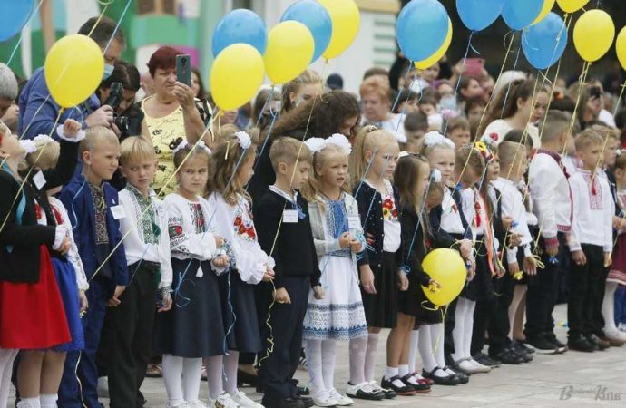
[[[120,222],[113,218],[111,211],[112,207],[120,204],[120,200],[117,197],[117,190],[108,183],[103,182],[102,189],[107,208],[106,228],[109,232],[109,253],[117,246],[108,261],[112,271],[112,283],[126,286],[128,284],[126,254],[123,245],[118,245],[122,240]],[[63,201],[70,216],[73,237],[83,260],[84,272],[87,278],[91,279],[104,259],[98,257],[95,248],[95,208],[92,193],[82,173],[74,175],[61,191],[59,198]]]

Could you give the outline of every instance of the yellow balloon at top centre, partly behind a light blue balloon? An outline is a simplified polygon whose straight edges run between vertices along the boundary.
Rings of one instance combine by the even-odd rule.
[[[361,24],[361,15],[354,0],[318,0],[318,2],[326,8],[333,23],[330,44],[322,54],[329,60],[346,51],[355,41]]]

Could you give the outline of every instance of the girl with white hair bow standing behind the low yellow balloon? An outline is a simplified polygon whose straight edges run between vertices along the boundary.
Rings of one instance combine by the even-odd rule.
[[[429,216],[433,231],[433,248],[456,248],[461,257],[469,262],[472,259],[472,243],[469,239],[467,222],[462,211],[461,196],[458,189],[451,188],[455,169],[455,144],[442,134],[431,131],[424,138],[423,154],[431,168],[441,173],[444,184],[444,198],[441,205],[435,207]],[[422,375],[432,379],[435,384],[456,385],[463,380],[455,371],[445,366],[444,324],[441,310],[429,310],[420,317],[419,354],[424,362]],[[415,348],[416,336],[412,336]],[[465,381],[465,380],[463,380]]]

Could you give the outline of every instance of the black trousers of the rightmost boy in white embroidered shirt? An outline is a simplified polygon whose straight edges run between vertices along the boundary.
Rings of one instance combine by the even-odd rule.
[[[571,338],[579,335],[602,335],[602,326],[596,320],[598,307],[602,316],[606,269],[604,250],[597,245],[582,244],[581,247],[587,257],[587,263],[576,265],[572,262],[568,279],[570,287],[567,299],[567,323],[570,328],[568,335]]]

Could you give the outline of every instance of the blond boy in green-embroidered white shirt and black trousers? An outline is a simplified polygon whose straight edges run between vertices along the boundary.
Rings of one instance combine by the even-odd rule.
[[[171,258],[167,214],[150,189],[156,171],[152,143],[141,137],[122,141],[120,170],[126,188],[120,191],[124,217],[121,230],[131,280],[121,304],[107,311],[111,407],[141,407],[139,392],[150,359],[154,309],[171,307]],[[157,299],[157,286],[161,290]]]

